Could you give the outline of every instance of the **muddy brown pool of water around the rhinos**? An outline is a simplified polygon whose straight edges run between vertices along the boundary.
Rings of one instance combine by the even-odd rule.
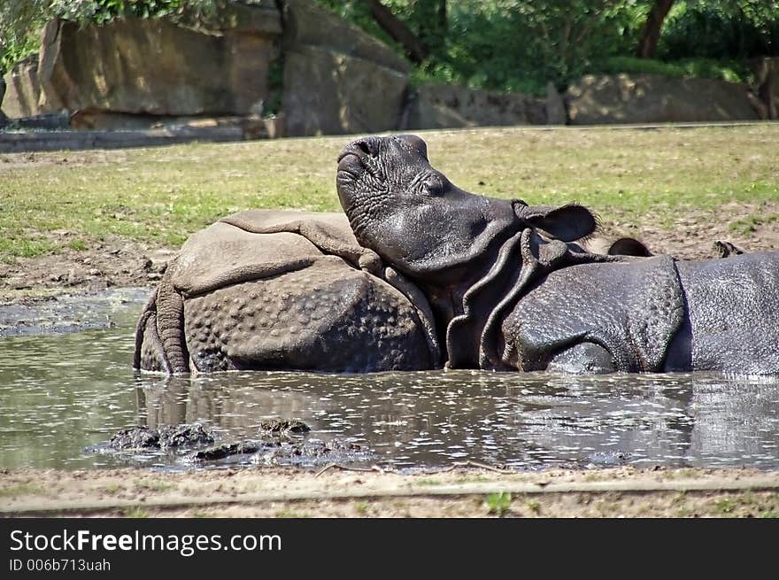
[[[0,468],[191,468],[181,454],[101,452],[118,429],[200,421],[218,442],[271,417],[360,445],[393,468],[779,468],[779,383],[720,375],[469,371],[166,379],[130,369],[137,300],[112,329],[0,338]],[[238,462],[257,462],[243,456]]]

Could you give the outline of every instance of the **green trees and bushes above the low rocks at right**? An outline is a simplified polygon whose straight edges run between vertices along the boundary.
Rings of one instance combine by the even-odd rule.
[[[394,47],[361,0],[318,0]],[[428,61],[414,67],[412,86],[457,83],[473,89],[542,95],[582,73],[658,73],[750,81],[744,59],[776,54],[775,0],[676,0],[660,38],[662,60],[632,58],[652,0],[460,0],[447,3],[447,23],[435,2],[382,0],[420,40]]]

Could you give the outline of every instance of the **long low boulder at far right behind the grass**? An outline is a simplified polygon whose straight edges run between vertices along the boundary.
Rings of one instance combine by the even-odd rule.
[[[655,74],[587,75],[568,88],[572,125],[756,120],[749,87]]]

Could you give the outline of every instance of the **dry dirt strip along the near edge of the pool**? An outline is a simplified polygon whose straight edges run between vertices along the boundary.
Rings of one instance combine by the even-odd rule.
[[[779,472],[20,470],[0,474],[0,498],[0,516],[779,517]]]

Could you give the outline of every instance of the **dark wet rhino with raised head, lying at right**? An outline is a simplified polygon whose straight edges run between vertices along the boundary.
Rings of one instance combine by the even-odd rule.
[[[593,254],[584,208],[467,193],[413,135],[351,143],[337,188],[358,243],[428,298],[449,367],[779,374],[779,252]]]

